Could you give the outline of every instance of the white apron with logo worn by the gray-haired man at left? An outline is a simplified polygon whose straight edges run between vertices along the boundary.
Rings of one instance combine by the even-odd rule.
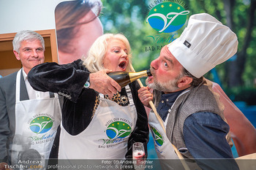
[[[15,136],[12,140],[12,165],[29,158],[45,163],[49,158],[61,122],[59,97],[20,101],[20,74],[16,77]],[[27,162],[26,162],[27,163]]]

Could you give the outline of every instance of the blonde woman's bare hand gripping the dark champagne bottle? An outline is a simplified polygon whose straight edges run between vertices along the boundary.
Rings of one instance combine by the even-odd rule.
[[[103,69],[99,72],[90,74],[90,88],[96,90],[99,93],[108,95],[112,98],[113,94],[117,91],[121,91],[121,86],[108,76],[107,73],[111,72],[109,69]]]

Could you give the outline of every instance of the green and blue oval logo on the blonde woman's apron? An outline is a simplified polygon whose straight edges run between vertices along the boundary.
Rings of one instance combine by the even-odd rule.
[[[106,130],[109,139],[123,139],[131,134],[132,128],[127,123],[116,121],[110,123]]]

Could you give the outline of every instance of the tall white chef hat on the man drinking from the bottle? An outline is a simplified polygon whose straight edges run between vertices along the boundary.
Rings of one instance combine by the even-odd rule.
[[[191,15],[181,36],[167,45],[178,62],[197,78],[227,61],[237,46],[236,34],[206,13]]]

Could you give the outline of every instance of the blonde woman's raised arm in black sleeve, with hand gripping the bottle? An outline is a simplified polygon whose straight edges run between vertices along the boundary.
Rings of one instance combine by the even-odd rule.
[[[99,93],[113,96],[121,90],[120,85],[110,78],[108,69],[91,73],[83,66],[80,59],[72,63],[59,65],[58,63],[42,63],[35,66],[28,74],[29,82],[35,90],[59,93],[69,100],[76,102],[83,85],[90,77],[89,88]]]

